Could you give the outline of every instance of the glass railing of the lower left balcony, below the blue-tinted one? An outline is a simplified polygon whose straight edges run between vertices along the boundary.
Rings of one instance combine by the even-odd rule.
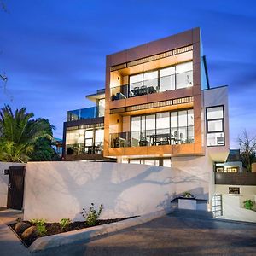
[[[84,143],[67,144],[67,154],[102,154],[103,143],[96,143],[95,145],[85,146]]]

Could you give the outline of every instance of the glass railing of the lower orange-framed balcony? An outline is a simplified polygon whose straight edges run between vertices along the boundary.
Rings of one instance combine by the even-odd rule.
[[[172,128],[173,133],[168,128],[158,129],[157,132],[146,130],[111,133],[110,145],[111,148],[125,148],[194,143],[194,136],[189,136],[193,129],[193,126],[185,126]]]

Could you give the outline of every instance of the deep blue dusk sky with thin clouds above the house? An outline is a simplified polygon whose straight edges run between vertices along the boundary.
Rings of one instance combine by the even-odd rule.
[[[229,85],[230,148],[242,129],[256,135],[255,1],[1,0],[0,107],[26,107],[62,137],[67,110],[93,106],[105,57],[201,27],[212,87]]]

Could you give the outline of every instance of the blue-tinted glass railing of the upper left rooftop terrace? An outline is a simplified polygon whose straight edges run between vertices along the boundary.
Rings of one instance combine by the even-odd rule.
[[[67,121],[77,121],[81,119],[95,119],[98,117],[97,107],[81,108],[67,111]]]

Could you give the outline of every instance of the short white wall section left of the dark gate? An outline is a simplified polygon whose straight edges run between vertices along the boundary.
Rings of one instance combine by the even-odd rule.
[[[4,175],[4,169],[9,169],[9,166],[24,166],[24,164],[0,162],[0,207],[7,206],[9,175]]]

